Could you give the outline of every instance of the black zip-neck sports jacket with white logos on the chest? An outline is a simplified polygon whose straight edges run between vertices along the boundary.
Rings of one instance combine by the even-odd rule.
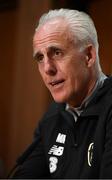
[[[76,123],[53,103],[18,164],[13,178],[112,178],[112,77]]]

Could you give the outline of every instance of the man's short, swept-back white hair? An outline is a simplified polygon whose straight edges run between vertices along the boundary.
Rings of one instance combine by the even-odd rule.
[[[44,25],[46,22],[56,18],[63,18],[67,22],[68,28],[74,37],[74,41],[80,42],[81,48],[89,43],[94,45],[97,55],[97,64],[99,69],[101,69],[98,55],[99,44],[97,32],[91,17],[88,14],[78,10],[50,10],[48,13],[41,16],[36,31],[38,31],[38,28]]]

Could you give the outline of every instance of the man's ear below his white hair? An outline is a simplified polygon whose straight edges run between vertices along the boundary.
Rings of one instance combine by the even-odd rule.
[[[96,62],[96,49],[92,44],[89,44],[85,49],[86,63],[88,67],[91,67]]]

